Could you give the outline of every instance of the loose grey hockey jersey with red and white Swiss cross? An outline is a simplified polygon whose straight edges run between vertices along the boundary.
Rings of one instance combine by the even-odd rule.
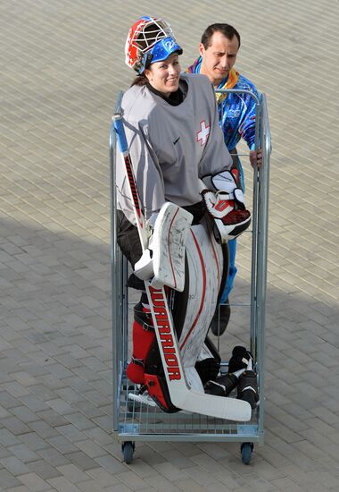
[[[139,198],[148,218],[165,201],[184,207],[201,201],[199,178],[229,169],[211,82],[200,74],[181,74],[186,98],[170,106],[147,87],[133,86],[121,102]],[[136,224],[125,168],[117,152],[117,201]]]

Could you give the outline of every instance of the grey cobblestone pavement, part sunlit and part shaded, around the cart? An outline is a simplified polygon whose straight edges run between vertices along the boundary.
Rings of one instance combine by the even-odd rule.
[[[337,491],[339,4],[152,5],[0,0],[0,490]],[[249,466],[236,443],[166,442],[126,465],[111,434],[108,131],[145,13],[171,22],[183,66],[209,23],[234,24],[236,66],[269,101],[266,438]],[[245,243],[239,265],[241,288]]]

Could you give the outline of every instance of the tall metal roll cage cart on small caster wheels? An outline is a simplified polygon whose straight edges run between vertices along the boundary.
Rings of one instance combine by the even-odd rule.
[[[250,293],[250,344],[258,373],[260,405],[249,422],[211,418],[198,413],[166,413],[157,406],[138,403],[129,397],[137,388],[126,376],[128,365],[128,262],[117,245],[115,164],[117,137],[110,130],[111,165],[111,254],[112,254],[112,381],[113,434],[122,443],[123,461],[133,461],[136,441],[239,442],[244,464],[252,458],[253,444],[264,439],[265,305],[267,284],[270,133],[266,97],[249,90],[220,89],[220,93],[249,94],[256,105],[255,148],[262,150],[260,171],[254,169],[252,187],[252,271]],[[115,115],[120,114],[122,92]],[[247,306],[247,305],[246,305]],[[130,337],[129,337],[130,339]],[[222,361],[221,368],[228,362]]]

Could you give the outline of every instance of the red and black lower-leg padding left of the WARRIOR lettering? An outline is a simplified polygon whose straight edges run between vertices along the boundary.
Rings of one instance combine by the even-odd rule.
[[[149,310],[140,301],[135,306],[133,323],[133,355],[126,369],[127,377],[136,385],[145,384],[145,359],[154,342],[155,332]]]

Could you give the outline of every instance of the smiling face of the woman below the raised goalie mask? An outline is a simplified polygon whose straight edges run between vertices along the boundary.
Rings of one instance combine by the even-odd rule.
[[[163,62],[154,62],[145,70],[149,83],[164,96],[169,97],[179,87],[181,68],[177,53],[172,53]]]

